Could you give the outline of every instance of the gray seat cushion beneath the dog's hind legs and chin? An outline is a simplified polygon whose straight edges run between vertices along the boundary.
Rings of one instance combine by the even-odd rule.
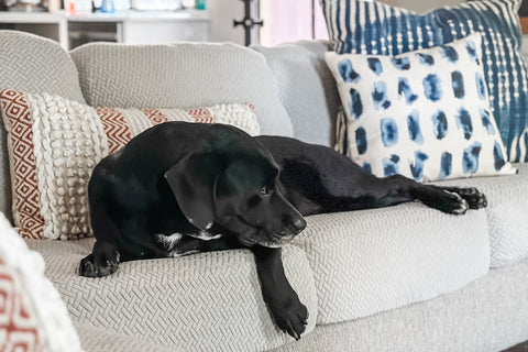
[[[366,317],[453,292],[485,275],[484,210],[452,216],[414,202],[307,218],[318,323]]]

